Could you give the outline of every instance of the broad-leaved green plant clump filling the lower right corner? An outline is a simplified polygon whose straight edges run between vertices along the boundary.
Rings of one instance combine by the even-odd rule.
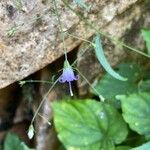
[[[150,83],[149,79],[144,80],[142,67],[135,63],[120,64],[118,68],[117,72],[126,75],[127,81],[107,73],[93,86],[105,101],[70,99],[52,103],[58,138],[67,150],[150,148],[150,87],[146,84]],[[128,144],[127,135],[133,131],[144,136],[144,145],[132,148],[133,145]]]

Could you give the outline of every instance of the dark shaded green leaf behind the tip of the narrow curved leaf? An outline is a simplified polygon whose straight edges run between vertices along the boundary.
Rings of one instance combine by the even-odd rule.
[[[138,91],[138,80],[142,76],[142,69],[137,64],[120,64],[118,65],[118,73],[124,74],[128,81],[119,81],[108,73],[94,86],[96,90],[107,100],[115,101],[116,95],[125,95]],[[112,88],[113,87],[113,88]],[[92,91],[94,94],[94,91]]]

